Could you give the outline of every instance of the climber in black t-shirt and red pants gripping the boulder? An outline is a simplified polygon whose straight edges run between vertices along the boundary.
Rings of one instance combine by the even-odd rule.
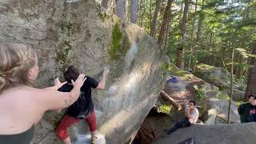
[[[102,74],[102,80],[97,82],[94,78],[86,76],[86,81],[81,87],[81,94],[76,102],[71,105],[66,114],[59,122],[55,132],[59,139],[64,141],[66,144],[70,144],[70,137],[67,133],[67,128],[81,119],[84,119],[90,126],[91,142],[94,143],[97,139],[96,132],[96,114],[94,111],[94,102],[91,98],[91,88],[99,90],[105,89],[106,76],[109,70],[104,69]],[[75,81],[78,78],[79,71],[74,66],[69,66],[64,72],[64,77],[68,83],[62,86],[59,91],[68,92],[73,89],[71,81]]]

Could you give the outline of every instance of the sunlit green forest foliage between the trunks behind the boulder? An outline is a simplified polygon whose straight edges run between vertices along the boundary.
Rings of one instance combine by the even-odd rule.
[[[150,32],[150,22],[154,15],[156,2],[158,1],[142,0],[140,2],[138,25],[142,26],[146,32]],[[162,2],[158,14],[156,39],[162,25],[166,2]],[[170,62],[173,63],[175,62],[176,51],[181,46],[182,2],[184,7],[184,1],[178,0],[172,3],[171,8],[166,54],[169,56]],[[198,0],[196,12],[194,12],[194,6],[195,0],[190,1],[185,54],[182,55],[186,70],[201,62],[225,68],[225,64],[231,63],[231,52],[232,49],[235,49],[234,67],[237,69],[235,73],[240,70],[242,76],[246,76],[246,71],[250,67],[247,62],[250,57],[254,57],[250,53],[256,39],[256,2],[210,0],[204,1],[202,6],[202,0]],[[192,34],[194,16],[195,23]],[[202,32],[198,38],[199,19],[202,20]],[[190,46],[196,51],[191,52]],[[190,58],[192,59],[189,65]],[[227,65],[226,68],[230,70],[230,65]]]

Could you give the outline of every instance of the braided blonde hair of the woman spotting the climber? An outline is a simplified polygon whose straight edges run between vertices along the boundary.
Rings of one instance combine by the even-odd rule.
[[[36,62],[36,52],[27,46],[0,43],[0,93],[14,86],[32,86],[28,72]]]

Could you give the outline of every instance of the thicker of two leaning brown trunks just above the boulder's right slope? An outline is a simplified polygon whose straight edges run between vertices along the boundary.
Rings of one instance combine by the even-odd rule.
[[[166,26],[170,21],[170,7],[171,7],[172,2],[173,2],[173,0],[168,0],[167,1],[165,14],[163,15],[163,18],[162,18],[162,26],[161,26],[160,33],[159,33],[159,36],[158,36],[158,44],[160,46],[162,45],[163,39],[165,38]]]

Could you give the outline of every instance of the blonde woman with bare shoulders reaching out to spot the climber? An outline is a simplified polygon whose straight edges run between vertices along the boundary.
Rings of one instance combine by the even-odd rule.
[[[38,76],[38,57],[34,50],[18,43],[0,43],[0,143],[29,144],[34,125],[46,110],[70,106],[79,97],[84,74],[72,84],[70,92],[59,92],[66,82],[36,89],[32,82]]]

